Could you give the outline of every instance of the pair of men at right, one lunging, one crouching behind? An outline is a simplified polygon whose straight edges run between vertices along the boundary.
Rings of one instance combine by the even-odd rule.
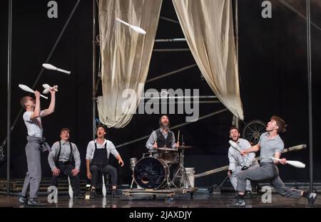
[[[285,132],[285,121],[280,117],[272,116],[267,122],[266,132],[260,135],[258,144],[252,146],[246,139],[240,138],[237,127],[230,128],[230,139],[236,142],[241,152],[237,152],[233,147],[229,148],[228,159],[230,161],[228,176],[237,196],[235,206],[245,206],[244,199],[251,198],[250,181],[269,181],[277,193],[282,196],[300,199],[305,197],[308,205],[312,206],[317,199],[317,194],[297,189],[288,189],[283,184],[279,176],[278,164],[287,164],[285,158],[280,159],[284,149],[284,142],[280,133]],[[254,159],[255,152],[260,150],[260,164]],[[245,158],[245,155],[248,158]],[[272,160],[275,157],[279,160]]]

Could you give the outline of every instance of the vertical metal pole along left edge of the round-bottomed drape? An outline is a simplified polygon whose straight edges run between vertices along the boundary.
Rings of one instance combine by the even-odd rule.
[[[96,0],[93,0],[93,139],[96,126]]]

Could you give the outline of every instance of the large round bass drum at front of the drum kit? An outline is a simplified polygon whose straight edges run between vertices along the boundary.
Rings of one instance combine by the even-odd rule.
[[[159,189],[165,186],[168,175],[169,169],[166,162],[154,157],[140,159],[133,171],[136,184],[143,189]]]

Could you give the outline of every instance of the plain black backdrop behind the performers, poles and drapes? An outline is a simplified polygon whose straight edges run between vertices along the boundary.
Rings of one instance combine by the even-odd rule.
[[[47,17],[48,1],[14,1],[13,39],[12,39],[12,92],[11,121],[19,112],[19,100],[26,95],[18,84],[33,85],[58,37],[63,24],[76,1],[57,1],[58,18]],[[245,122],[250,120],[267,121],[272,115],[280,115],[288,124],[287,132],[282,135],[285,147],[308,144],[307,109],[307,47],[305,20],[282,6],[272,2],[272,18],[262,18],[262,1],[239,1],[239,67],[240,94],[243,101]],[[299,11],[305,15],[305,1],[295,2]],[[71,140],[81,152],[81,177],[85,179],[86,146],[92,136],[91,91],[92,91],[92,4],[81,1],[63,34],[49,63],[66,70],[71,75],[45,70],[36,89],[41,85],[58,85],[56,94],[56,112],[44,118],[44,137],[49,144],[59,139],[59,129],[69,127]],[[321,6],[312,1],[312,22],[321,26]],[[0,1],[1,7],[1,60],[0,88],[3,108],[0,115],[0,139],[6,137],[6,83],[7,83],[7,22],[8,3]],[[161,16],[177,20],[173,4],[164,0]],[[313,150],[315,180],[320,180],[320,59],[321,31],[312,26],[312,81],[313,81]],[[183,38],[178,23],[160,19],[156,38]],[[154,48],[188,48],[186,43],[155,43]],[[195,63],[189,51],[153,52],[148,78],[167,73]],[[146,84],[146,89],[199,88],[200,95],[213,95],[208,84],[201,78],[200,70],[190,68],[168,78]],[[47,107],[49,101],[41,99],[41,107]],[[201,104],[200,116],[223,109],[220,104]],[[158,127],[159,115],[134,115],[133,120],[123,129],[108,129],[107,137],[115,145],[150,134]],[[178,125],[185,115],[170,115],[171,125]],[[195,167],[197,173],[228,164],[228,129],[232,122],[230,112],[223,112],[205,120],[182,127],[184,141],[193,145],[186,154],[185,166]],[[177,136],[177,130],[174,131]],[[23,178],[26,171],[26,127],[22,117],[11,134],[11,178]],[[124,168],[118,167],[119,184],[131,182],[129,159],[141,158],[146,152],[146,140],[120,147],[125,161]],[[309,179],[309,152],[285,154],[288,159],[298,159],[307,164],[306,169],[281,166],[280,174],[285,181],[307,181]],[[51,175],[43,158],[43,175]],[[0,166],[0,176],[6,177],[6,164]],[[207,186],[223,180],[225,173],[214,174],[196,179],[196,186]]]

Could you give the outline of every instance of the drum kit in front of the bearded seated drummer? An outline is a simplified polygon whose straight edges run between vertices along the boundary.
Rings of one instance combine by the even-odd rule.
[[[191,147],[158,147],[143,154],[139,161],[137,158],[131,158],[131,170],[133,171],[131,189],[134,181],[139,189],[192,188],[194,183],[184,168],[184,151],[188,148]],[[170,178],[173,165],[178,167]]]

